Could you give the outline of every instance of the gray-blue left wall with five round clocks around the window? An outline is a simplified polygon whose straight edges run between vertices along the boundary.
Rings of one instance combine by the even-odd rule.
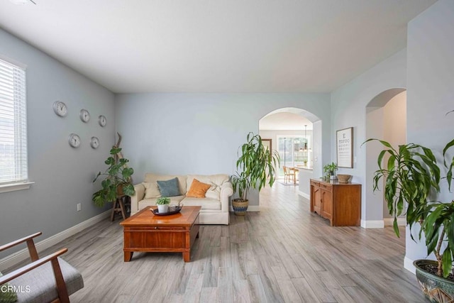
[[[40,241],[105,210],[92,204],[99,186],[92,179],[104,170],[114,143],[114,94],[1,29],[0,54],[28,66],[28,175],[35,182],[30,189],[0,194],[0,243],[42,231]],[[65,118],[54,114],[56,100],[67,104]],[[89,123],[79,119],[80,109],[89,110]],[[105,128],[98,124],[100,114],[108,119]],[[70,133],[81,137],[79,148],[68,144]],[[97,150],[89,145],[92,136],[101,141]]]

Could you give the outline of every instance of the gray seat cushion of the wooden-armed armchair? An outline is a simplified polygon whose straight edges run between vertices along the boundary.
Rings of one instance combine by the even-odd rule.
[[[68,295],[84,287],[84,280],[78,270],[58,258],[60,269],[62,270],[63,280],[65,280]],[[41,265],[34,270],[16,277],[10,281],[11,285],[18,290],[18,302],[51,302],[58,297],[55,287],[55,276],[50,262]],[[27,292],[27,288],[28,291]]]

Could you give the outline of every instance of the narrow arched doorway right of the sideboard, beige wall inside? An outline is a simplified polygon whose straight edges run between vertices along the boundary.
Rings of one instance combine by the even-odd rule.
[[[366,106],[366,138],[388,141],[394,147],[406,143],[406,89],[388,89],[374,97]],[[378,142],[366,145],[366,228],[392,225],[382,192],[373,192],[372,180],[378,169],[377,157],[382,150]],[[382,189],[382,187],[380,187]],[[405,225],[403,219],[400,224]]]

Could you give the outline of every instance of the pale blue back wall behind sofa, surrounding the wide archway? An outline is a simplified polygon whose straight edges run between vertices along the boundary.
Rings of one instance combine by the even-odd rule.
[[[232,175],[248,132],[258,133],[258,121],[282,107],[320,117],[323,158],[329,158],[329,94],[118,94],[116,129],[135,182],[145,172]]]

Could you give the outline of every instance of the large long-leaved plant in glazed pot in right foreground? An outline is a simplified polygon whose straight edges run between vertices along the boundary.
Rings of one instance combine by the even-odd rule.
[[[394,232],[399,236],[397,216],[406,214],[410,231],[416,224],[419,225],[419,240],[423,234],[427,254],[435,255],[436,260],[414,261],[421,289],[431,302],[453,302],[454,200],[438,202],[428,197],[440,191],[443,179],[448,182],[450,190],[454,157],[448,162],[446,158],[454,140],[443,149],[443,162],[447,168],[445,178],[441,178],[440,167],[429,148],[409,143],[394,149],[386,141],[369,139],[365,143],[369,141],[380,141],[384,145],[377,159],[379,170],[375,172],[373,188],[377,190],[384,182],[384,199],[389,214],[394,216]],[[389,158],[382,165],[385,155]],[[413,235],[411,238],[414,240]]]

